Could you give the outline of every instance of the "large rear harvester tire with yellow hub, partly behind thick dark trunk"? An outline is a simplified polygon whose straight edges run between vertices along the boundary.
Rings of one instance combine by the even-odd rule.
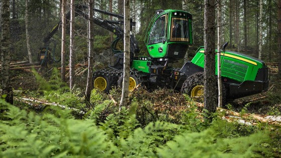
[[[216,98],[218,98],[218,84],[216,83]],[[182,85],[181,93],[188,94],[197,102],[204,102],[204,72],[197,72],[189,76]],[[227,103],[227,89],[222,84],[222,105]]]

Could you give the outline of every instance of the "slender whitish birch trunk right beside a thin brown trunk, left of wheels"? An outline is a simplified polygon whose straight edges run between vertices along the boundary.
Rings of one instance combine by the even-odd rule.
[[[70,1],[70,47],[69,47],[69,87],[72,90],[74,86],[74,24],[75,24],[75,1]]]

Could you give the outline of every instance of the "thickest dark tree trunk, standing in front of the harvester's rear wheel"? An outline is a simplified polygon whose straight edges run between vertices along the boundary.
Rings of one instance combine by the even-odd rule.
[[[204,0],[204,106],[216,110],[215,77],[215,0]]]

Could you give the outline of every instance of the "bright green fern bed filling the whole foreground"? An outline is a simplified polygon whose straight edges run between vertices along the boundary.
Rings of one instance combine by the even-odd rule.
[[[267,128],[239,134],[220,119],[194,132],[186,127],[194,125],[165,121],[141,128],[135,111],[124,107],[96,125],[95,109],[75,119],[66,109],[39,116],[0,104],[0,157],[263,157],[272,155],[272,134],[279,139]]]

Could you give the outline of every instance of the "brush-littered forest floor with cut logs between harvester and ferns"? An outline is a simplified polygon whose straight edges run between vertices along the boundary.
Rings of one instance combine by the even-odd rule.
[[[28,71],[13,70],[11,80],[14,88],[14,105],[23,111],[31,111],[31,113],[35,111],[40,116],[44,113],[56,114],[56,109],[60,109],[57,106],[63,109],[71,107],[71,115],[75,117],[75,120],[85,121],[85,116],[94,113],[93,118],[98,125],[117,113],[121,94],[119,89],[113,89],[109,94],[93,89],[90,98],[93,101],[90,102],[90,108],[88,108],[84,95],[87,73],[76,77],[75,89],[77,90],[70,91],[69,88],[65,88],[68,87],[68,83],[59,81],[59,72],[52,73],[52,71],[53,69],[49,68],[41,72],[40,76],[36,76]],[[54,90],[44,90],[44,84],[51,85]],[[192,127],[191,129],[194,128],[194,131],[211,126],[217,127],[219,131],[223,129],[222,133],[225,132],[231,137],[268,131],[270,140],[261,144],[268,150],[268,153],[264,153],[264,157],[281,157],[281,83],[276,82],[275,77],[271,76],[269,87],[267,92],[236,99],[225,107],[218,108],[214,116],[223,123],[216,120],[208,123],[202,103],[194,102],[187,95],[165,88],[147,90],[137,87],[129,93],[129,107],[126,110],[134,112],[137,127],[142,129],[152,122],[163,121],[187,125],[187,127]],[[121,114],[116,114],[116,120],[122,116],[119,118],[118,115]],[[223,137],[221,134],[217,136]],[[245,140],[245,137],[241,138]],[[256,142],[256,139],[253,141]]]

